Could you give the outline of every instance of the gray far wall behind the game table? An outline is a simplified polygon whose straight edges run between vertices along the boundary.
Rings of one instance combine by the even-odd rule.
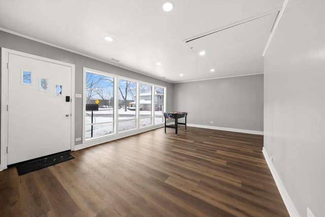
[[[174,110],[187,122],[263,132],[263,74],[174,84]],[[210,123],[213,121],[213,123]]]

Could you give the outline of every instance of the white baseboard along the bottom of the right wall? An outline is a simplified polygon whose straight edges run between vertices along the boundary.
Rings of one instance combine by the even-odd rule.
[[[278,190],[280,192],[280,195],[282,197],[282,200],[284,202],[284,205],[286,207],[286,209],[288,210],[289,212],[289,215],[291,217],[299,217],[299,214],[298,214],[298,211],[295,207],[295,205],[293,204],[293,202],[291,201],[289,195],[287,194],[287,192],[285,191],[285,188],[281,182],[281,179],[278,175],[278,173],[276,172],[274,166],[273,166],[273,163],[271,161],[271,158],[269,157],[266,149],[263,147],[263,154],[264,154],[264,158],[266,160],[266,162],[268,163],[268,166],[270,168],[270,171],[272,173],[272,176],[273,176],[273,179],[275,181],[275,184],[276,186],[278,187]]]

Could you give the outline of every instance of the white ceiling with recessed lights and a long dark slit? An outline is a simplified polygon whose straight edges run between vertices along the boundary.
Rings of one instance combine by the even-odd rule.
[[[0,30],[172,83],[263,73],[284,0],[164,2],[0,0]]]

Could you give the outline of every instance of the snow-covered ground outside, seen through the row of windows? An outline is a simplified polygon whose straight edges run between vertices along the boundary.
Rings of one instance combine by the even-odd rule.
[[[155,115],[163,115],[162,111],[155,111]],[[136,128],[136,111],[124,108],[118,109],[118,132],[132,130]],[[155,123],[162,123],[164,116],[155,117]],[[114,133],[113,108],[100,108],[99,111],[93,111],[92,118],[92,138],[105,136]],[[90,124],[90,125],[89,125]],[[140,128],[151,126],[151,112],[140,111]],[[91,111],[86,111],[86,139],[91,138]]]

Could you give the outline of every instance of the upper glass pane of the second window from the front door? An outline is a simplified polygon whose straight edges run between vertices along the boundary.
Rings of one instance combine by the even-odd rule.
[[[118,80],[118,119],[136,117],[136,82]]]

